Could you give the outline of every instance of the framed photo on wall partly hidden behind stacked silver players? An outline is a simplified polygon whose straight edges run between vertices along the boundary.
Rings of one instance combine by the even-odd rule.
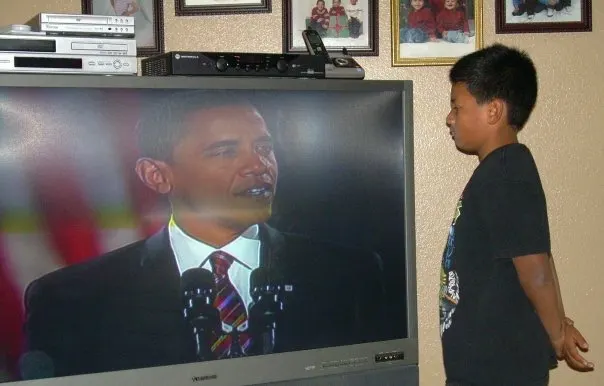
[[[137,56],[164,52],[163,0],[82,0],[82,13],[134,16]]]

